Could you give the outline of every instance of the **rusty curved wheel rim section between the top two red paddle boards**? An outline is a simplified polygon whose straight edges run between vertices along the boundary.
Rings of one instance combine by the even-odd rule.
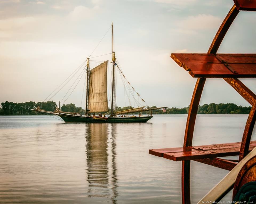
[[[233,23],[233,21],[238,13],[239,13],[239,10],[237,10],[236,6],[234,5],[230,9],[226,18],[223,20],[221,26],[219,27],[219,30],[216,33],[216,35],[213,39],[213,42],[211,43],[211,46],[208,50],[208,53],[217,53],[223,38],[225,37],[227,31],[229,30],[230,25]]]

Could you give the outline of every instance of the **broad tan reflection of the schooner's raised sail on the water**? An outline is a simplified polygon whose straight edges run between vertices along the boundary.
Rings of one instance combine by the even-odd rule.
[[[87,181],[90,197],[110,196],[107,135],[107,124],[87,124]]]

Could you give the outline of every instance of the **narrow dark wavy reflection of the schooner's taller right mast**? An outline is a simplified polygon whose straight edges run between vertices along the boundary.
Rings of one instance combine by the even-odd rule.
[[[112,139],[112,145],[111,145],[111,155],[112,155],[112,164],[111,164],[111,167],[112,167],[112,197],[111,197],[111,201],[113,204],[116,204],[117,203],[117,196],[118,196],[118,191],[117,191],[117,165],[116,165],[116,162],[115,162],[115,156],[116,156],[116,143],[115,143],[115,124],[111,124],[111,139]]]

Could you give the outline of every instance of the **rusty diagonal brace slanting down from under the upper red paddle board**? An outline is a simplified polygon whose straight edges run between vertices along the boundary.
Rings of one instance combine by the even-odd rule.
[[[240,80],[237,78],[223,78],[230,86],[232,86],[248,103],[254,104],[256,95],[247,88]]]

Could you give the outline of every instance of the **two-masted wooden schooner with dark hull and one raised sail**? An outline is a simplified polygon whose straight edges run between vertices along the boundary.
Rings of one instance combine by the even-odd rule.
[[[116,63],[116,57],[114,52],[113,43],[113,22],[112,27],[112,90],[111,90],[111,109],[110,116],[105,117],[105,114],[109,112],[108,99],[107,99],[107,64],[108,61],[104,61],[100,65],[94,67],[90,70],[89,57],[87,58],[86,65],[86,104],[85,104],[85,115],[80,115],[77,113],[64,112],[56,107],[56,110],[45,111],[41,110],[40,107],[33,109],[39,113],[47,113],[60,116],[66,123],[132,123],[132,122],[147,122],[149,119],[153,118],[152,110],[162,109],[160,108],[148,108],[144,109],[145,106],[132,108],[128,110],[115,111],[115,66],[118,67]],[[118,67],[119,69],[119,67]],[[120,70],[123,75],[122,71]],[[123,75],[125,78],[125,76]],[[129,83],[129,82],[128,82]],[[130,83],[129,83],[130,84]],[[133,87],[132,87],[133,88]],[[134,90],[134,88],[133,88]],[[137,92],[136,92],[137,93]],[[138,93],[137,93],[138,94]],[[139,94],[138,94],[139,96]],[[139,96],[140,97],[140,96]],[[142,98],[141,100],[145,102]],[[142,111],[151,111],[148,116],[130,116],[124,115],[122,117],[117,117],[120,114],[136,113]],[[95,113],[105,113],[103,116],[99,114],[96,116]],[[93,114],[93,115],[91,115]]]

